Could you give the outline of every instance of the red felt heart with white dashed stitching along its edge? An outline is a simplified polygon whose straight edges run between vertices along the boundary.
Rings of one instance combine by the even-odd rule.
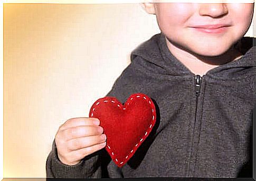
[[[100,120],[107,136],[106,150],[118,167],[135,154],[156,123],[153,101],[145,94],[132,94],[122,105],[115,97],[98,99],[89,117]]]

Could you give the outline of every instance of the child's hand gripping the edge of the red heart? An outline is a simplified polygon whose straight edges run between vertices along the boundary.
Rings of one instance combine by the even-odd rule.
[[[55,144],[63,164],[75,165],[106,146],[106,135],[97,118],[71,118],[58,129]]]

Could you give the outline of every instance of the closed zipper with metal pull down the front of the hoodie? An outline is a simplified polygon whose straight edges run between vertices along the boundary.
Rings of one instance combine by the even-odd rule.
[[[195,96],[196,96],[196,106],[195,106],[195,120],[194,120],[194,130],[193,130],[193,137],[191,140],[191,147],[188,153],[188,162],[186,163],[186,176],[189,176],[189,169],[190,169],[190,162],[191,162],[191,155],[192,155],[192,150],[194,146],[194,135],[195,135],[195,126],[196,126],[196,113],[197,113],[197,104],[198,104],[198,97],[200,96],[200,89],[201,89],[201,82],[202,82],[202,77],[200,75],[195,76]]]

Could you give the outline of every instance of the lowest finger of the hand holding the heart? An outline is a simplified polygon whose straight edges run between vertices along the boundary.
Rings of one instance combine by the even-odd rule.
[[[93,145],[90,147],[74,150],[73,152],[68,153],[67,157],[70,158],[69,162],[71,162],[71,163],[77,162],[78,160],[81,160],[85,156],[90,155],[94,152],[97,152],[98,150],[104,148],[105,146],[106,146],[106,142],[97,144],[97,145]]]

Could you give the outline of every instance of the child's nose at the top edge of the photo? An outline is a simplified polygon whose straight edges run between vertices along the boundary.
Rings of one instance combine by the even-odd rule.
[[[205,3],[201,4],[199,13],[201,16],[218,18],[229,13],[229,9],[225,3]]]

